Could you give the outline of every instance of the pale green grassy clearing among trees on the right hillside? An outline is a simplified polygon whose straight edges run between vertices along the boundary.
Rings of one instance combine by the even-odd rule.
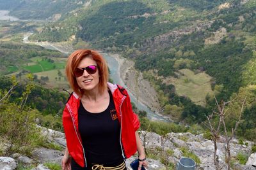
[[[205,73],[195,74],[189,69],[180,69],[179,71],[184,75],[164,81],[175,85],[179,96],[187,96],[195,104],[204,106],[205,97],[207,94],[212,94],[211,76]]]

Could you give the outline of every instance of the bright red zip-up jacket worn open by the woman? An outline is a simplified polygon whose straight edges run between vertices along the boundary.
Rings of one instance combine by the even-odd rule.
[[[124,159],[131,157],[136,150],[135,132],[140,127],[138,115],[133,113],[130,97],[127,91],[119,85],[108,83],[108,88],[112,92],[115,103],[116,113],[121,125],[120,145]],[[71,157],[79,164],[79,166],[87,167],[86,157],[84,155],[81,136],[78,129],[78,108],[80,97],[76,93],[72,93],[63,110],[63,127],[67,140],[67,148]]]

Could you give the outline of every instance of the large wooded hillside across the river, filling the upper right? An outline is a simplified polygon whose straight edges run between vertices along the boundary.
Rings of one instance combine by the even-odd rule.
[[[256,82],[255,8],[255,0],[83,1],[29,38],[71,41],[134,60],[156,89],[161,112],[177,122],[204,122],[215,106],[213,94],[230,101],[252,92],[242,117],[249,120],[256,105],[250,88]],[[254,139],[255,131],[255,123],[243,122],[239,135]]]

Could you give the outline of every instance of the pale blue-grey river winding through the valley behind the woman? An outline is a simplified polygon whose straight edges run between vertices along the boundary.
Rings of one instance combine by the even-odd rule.
[[[60,45],[54,45],[54,43],[49,43],[49,42],[30,42],[28,40],[28,37],[33,34],[33,33],[28,33],[24,36],[23,41],[24,43],[34,43],[36,45],[40,45],[43,46],[44,48],[47,49],[51,49],[51,50],[58,50],[62,53],[68,54],[71,53],[73,50],[72,48],[68,49],[65,47],[62,47]],[[100,52],[102,53],[102,52]],[[157,115],[156,113],[154,113],[152,110],[150,110],[147,106],[145,106],[145,104],[141,103],[140,101],[136,100],[136,97],[134,97],[132,95],[132,92],[129,91],[129,89],[126,87],[126,85],[124,84],[124,81],[122,80],[120,74],[118,73],[119,69],[119,63],[118,61],[115,59],[115,57],[111,57],[110,55],[108,55],[108,53],[102,53],[104,59],[106,59],[107,63],[108,63],[108,67],[110,70],[110,78],[114,81],[114,83],[120,84],[122,85],[122,87],[125,87],[125,89],[127,89],[127,91],[129,92],[129,96],[131,97],[131,101],[133,103],[136,104],[136,107],[138,107],[139,110],[144,110],[147,112],[147,116],[148,118],[150,118],[150,120],[161,120],[164,122],[170,122],[170,119],[168,117],[164,117],[162,115]]]

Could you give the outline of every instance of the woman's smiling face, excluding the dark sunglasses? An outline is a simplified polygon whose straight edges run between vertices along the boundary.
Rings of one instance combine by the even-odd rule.
[[[92,57],[85,57],[78,64],[77,68],[84,68],[88,66],[97,66],[97,62]],[[85,69],[82,76],[76,77],[77,84],[84,91],[99,90],[99,71],[89,74]]]

